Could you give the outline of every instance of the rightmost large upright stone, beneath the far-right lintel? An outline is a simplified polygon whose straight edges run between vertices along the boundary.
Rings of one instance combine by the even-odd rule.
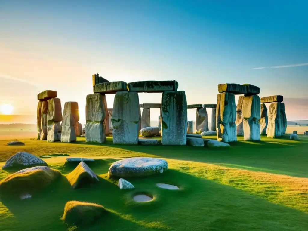
[[[281,102],[270,104],[269,122],[267,125],[266,134],[269,138],[277,138],[282,136],[282,119],[281,119]]]

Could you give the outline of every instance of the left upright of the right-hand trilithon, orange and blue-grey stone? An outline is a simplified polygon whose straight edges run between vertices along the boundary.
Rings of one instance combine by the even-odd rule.
[[[224,92],[217,95],[216,119],[217,140],[225,143],[237,141],[236,105],[233,93]]]

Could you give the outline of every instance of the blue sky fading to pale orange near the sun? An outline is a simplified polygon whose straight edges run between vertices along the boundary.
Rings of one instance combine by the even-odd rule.
[[[288,120],[306,120],[307,7],[305,0],[0,0],[0,105],[36,115],[37,94],[55,90],[62,106],[79,103],[84,122],[99,73],[127,83],[177,80],[188,104],[216,103],[219,83],[250,83],[260,97],[283,95]],[[161,94],[139,100],[160,103]],[[189,109],[188,120],[195,114]],[[151,109],[151,120],[158,115]]]

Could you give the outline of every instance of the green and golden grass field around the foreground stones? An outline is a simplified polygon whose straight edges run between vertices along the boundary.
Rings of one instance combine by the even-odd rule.
[[[296,129],[295,129],[296,130]],[[209,136],[208,138],[215,138]],[[0,200],[1,230],[75,230],[60,220],[67,201],[98,203],[111,213],[78,230],[308,230],[308,136],[293,141],[261,137],[260,142],[239,142],[231,148],[190,146],[72,144],[20,139],[26,145],[6,146],[0,140],[0,166],[18,151],[42,157],[62,177],[27,200]],[[89,167],[99,176],[91,187],[72,189],[65,177],[74,166],[69,157],[97,159]],[[127,157],[150,156],[168,161],[169,170],[158,176],[127,179],[132,191],[120,191],[107,176],[112,162]],[[10,172],[0,171],[0,180]],[[175,184],[178,191],[156,187]],[[136,203],[138,192],[154,200]]]

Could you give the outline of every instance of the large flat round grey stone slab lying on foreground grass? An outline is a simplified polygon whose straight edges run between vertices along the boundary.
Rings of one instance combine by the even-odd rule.
[[[134,177],[150,176],[168,170],[166,160],[152,157],[132,157],[111,164],[109,176]]]

